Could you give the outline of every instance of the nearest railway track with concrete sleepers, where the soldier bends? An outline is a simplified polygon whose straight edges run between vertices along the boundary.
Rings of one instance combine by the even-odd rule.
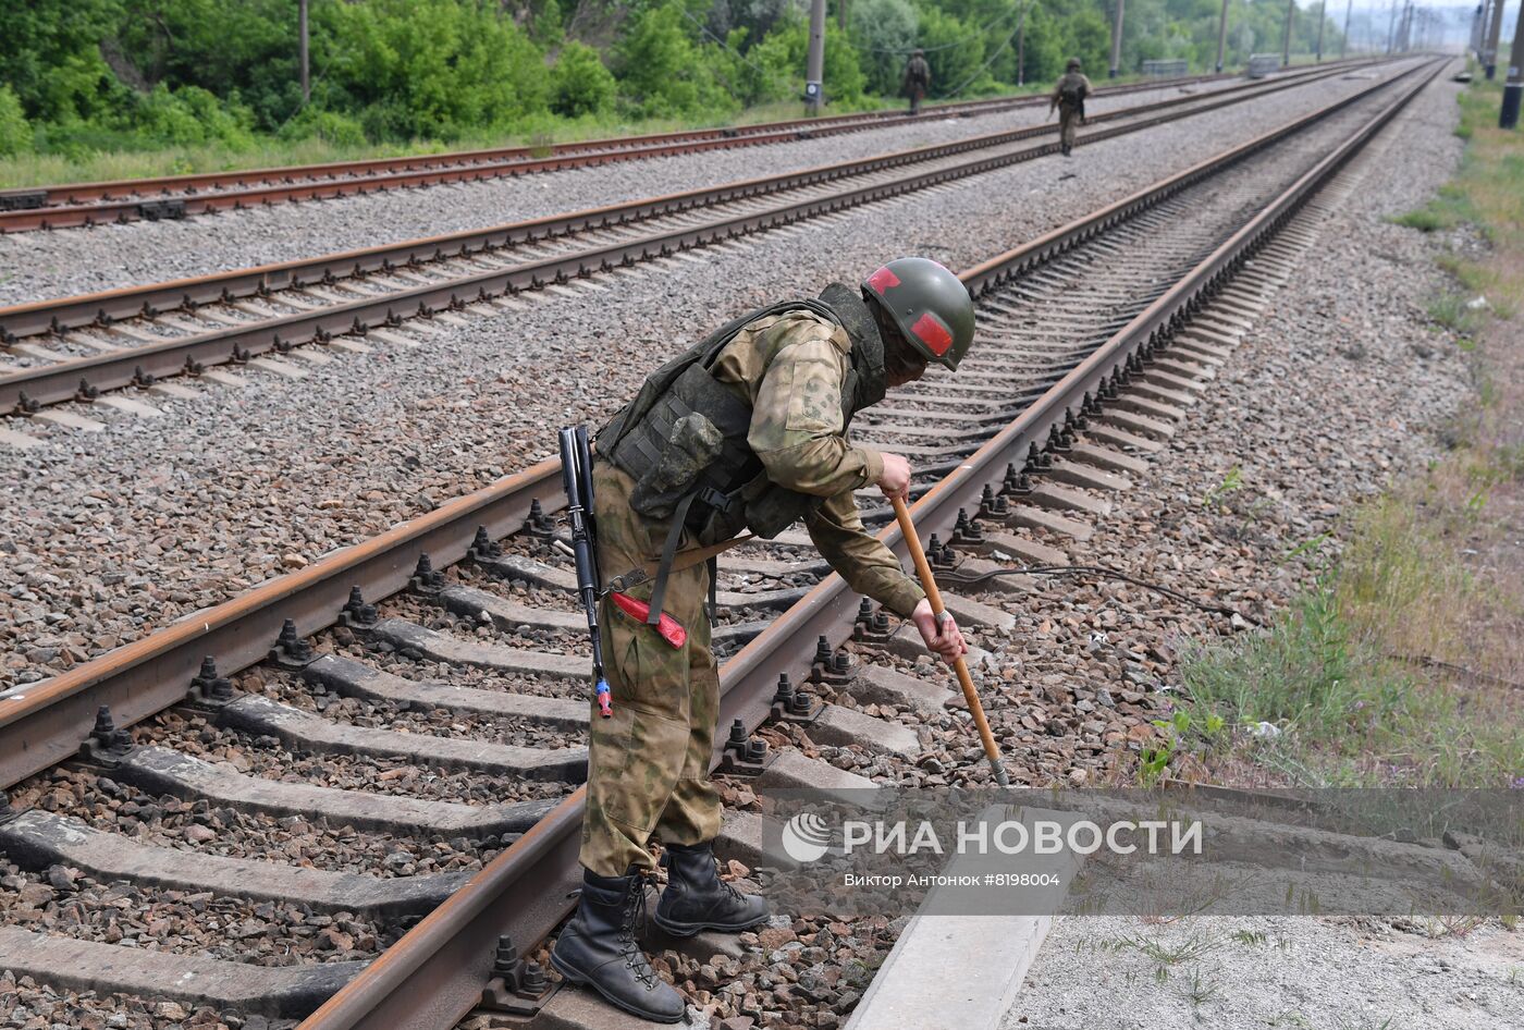
[[[949,582],[1020,570],[1009,555],[1045,564],[1050,545],[1023,538],[1021,527],[1061,526],[1076,498],[1138,471],[1128,451],[1157,448],[1170,433],[1166,413],[1204,390],[1224,360],[1212,326],[1242,321],[1265,288],[1254,280],[1280,271],[1286,244],[1277,232],[1437,70],[1298,119],[963,273],[980,305],[968,364],[978,376],[933,375],[898,390],[860,433],[911,454],[916,526],[957,549]],[[949,424],[963,427],[954,442],[928,445]],[[69,937],[6,926],[0,968],[73,989],[276,1015],[332,995],[303,1024],[312,1030],[447,1027],[475,1004],[492,946],[507,936],[527,954],[568,911],[578,881],[576,783],[585,760],[578,727],[588,705],[570,570],[550,542],[558,477],[543,463],[55,680],[0,695],[0,785],[14,791],[0,812],[0,849],[9,861],[47,876],[62,868],[62,879],[82,870],[87,887],[122,879],[136,890],[287,907],[302,926],[322,926],[329,940],[337,934],[338,957],[357,951],[344,942],[367,939],[373,954],[395,940],[379,958],[363,968],[251,966],[178,954],[183,945],[125,949],[88,929]],[[882,504],[861,500],[870,524],[885,524],[882,539],[904,553]],[[803,545],[785,535],[722,567],[716,637],[732,654],[721,719],[739,728],[716,762],[762,765],[759,783],[895,782],[896,763],[919,748],[911,727],[968,727],[943,704],[951,692],[942,684],[896,673],[879,657],[907,646],[904,628],[872,613],[860,622],[858,599],[840,579],[821,577],[818,562],[797,550]],[[386,599],[383,609],[367,597]],[[998,609],[974,597],[954,611],[975,632],[998,631]],[[855,626],[853,661],[838,648]],[[431,681],[442,672],[448,681]],[[811,683],[815,696],[780,690],[782,673]],[[227,675],[239,677],[238,687]],[[878,715],[849,696],[875,699]],[[997,734],[1018,756],[1020,727],[991,709]],[[817,742],[835,742],[837,766],[858,772],[792,748],[770,756],[753,736],[768,724],[774,742],[788,742],[802,722]],[[137,728],[126,733],[131,724]],[[972,731],[965,737],[962,753],[949,754],[952,779],[981,785],[978,742]],[[59,762],[75,765],[50,771]],[[384,772],[366,779],[381,765]],[[390,776],[415,766],[430,771],[422,783]],[[442,800],[451,769],[457,783],[480,783],[469,798],[486,803]],[[364,789],[340,789],[346,779]],[[149,817],[146,808],[158,811]],[[351,838],[352,852],[396,849],[401,861],[389,855],[364,876],[216,852],[219,833],[247,833],[258,820],[323,818],[334,836]],[[192,826],[201,832],[192,835]],[[754,829],[754,817],[733,821],[728,844],[744,847]],[[459,865],[450,868],[450,855],[500,846],[468,882]],[[271,846],[255,856],[290,861]],[[332,865],[351,862],[341,852]],[[407,875],[387,875],[402,868]],[[29,876],[21,890],[40,891],[43,873]],[[79,919],[62,922],[66,932],[91,925],[79,888],[50,890],[75,899]],[[399,936],[402,920],[422,911]],[[235,926],[253,919],[236,905],[218,914]],[[503,996],[543,1003],[533,971],[501,957],[520,987],[509,984]],[[547,1004],[570,1004],[567,996]]]

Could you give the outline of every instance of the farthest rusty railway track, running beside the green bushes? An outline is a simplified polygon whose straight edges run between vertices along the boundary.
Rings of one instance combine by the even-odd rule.
[[[1349,69],[1369,61],[1329,62],[1321,69]],[[1317,73],[1314,69],[1311,73]],[[1308,75],[1305,69],[1283,73]],[[1102,87],[1097,98],[1187,87],[1233,79],[1233,75],[1198,75],[1155,82]],[[922,117],[974,117],[1044,104],[1042,96],[995,98],[948,104]],[[387,157],[329,165],[264,168],[241,172],[201,172],[158,178],[72,183],[30,189],[0,190],[0,232],[34,232],[128,222],[137,219],[186,218],[216,210],[299,200],[328,200],[407,189],[439,183],[482,181],[507,175],[552,172],[616,162],[646,160],[736,146],[762,146],[800,139],[860,133],[913,122],[902,111],[867,111],[817,119],[791,119],[759,125],[657,133],[614,139],[556,143],[552,146],[511,146],[415,157]]]

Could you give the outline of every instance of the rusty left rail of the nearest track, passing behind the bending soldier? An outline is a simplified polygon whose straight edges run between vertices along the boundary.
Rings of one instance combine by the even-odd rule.
[[[1401,76],[1376,88],[1398,81]],[[1353,99],[1340,101],[1329,110]],[[1213,171],[1306,128],[1324,113],[1303,116],[1044,233],[963,273],[965,282],[981,296],[1001,282],[1001,276],[1042,264]],[[556,462],[543,462],[52,680],[0,695],[0,742],[5,744],[0,747],[0,788],[72,754],[90,734],[101,704],[111,705],[119,725],[131,725],[181,701],[203,655],[215,654],[224,673],[236,672],[265,657],[285,619],[293,619],[303,635],[325,629],[337,620],[351,587],[360,587],[372,599],[389,596],[407,584],[419,555],[428,553],[436,564],[454,562],[466,553],[477,526],[485,526],[494,538],[503,536],[523,524],[535,497],[555,510],[559,507],[558,475]]]

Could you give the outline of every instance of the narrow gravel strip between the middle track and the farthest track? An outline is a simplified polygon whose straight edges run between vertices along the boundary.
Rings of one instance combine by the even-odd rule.
[[[1187,87],[1209,96],[1241,84]],[[1314,104],[1349,85],[1340,76],[1286,94]],[[1181,87],[1091,101],[1094,114],[1181,96]],[[1242,108],[1230,108],[1242,110]],[[137,221],[88,230],[0,236],[0,303],[91,293],[125,285],[203,276],[335,250],[433,236],[465,229],[660,197],[700,186],[757,178],[789,169],[887,154],[983,136],[1047,117],[1033,105],[980,117],[927,116],[914,125],[847,133],[817,140],[744,146],[626,162],[546,175],[386,190],[303,204],[204,215],[186,221]]]

